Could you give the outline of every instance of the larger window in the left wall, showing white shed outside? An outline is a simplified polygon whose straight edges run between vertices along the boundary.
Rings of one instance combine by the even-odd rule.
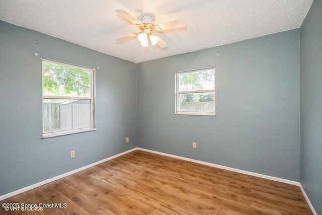
[[[94,69],[42,60],[43,137],[94,128]]]

